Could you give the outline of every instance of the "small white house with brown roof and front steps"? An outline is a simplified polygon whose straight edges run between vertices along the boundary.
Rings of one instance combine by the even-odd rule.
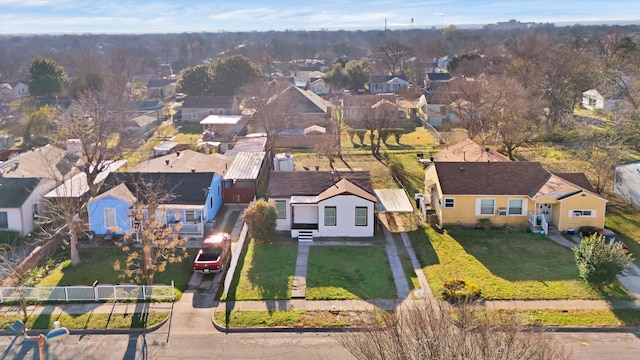
[[[314,237],[370,237],[376,197],[368,171],[271,171],[276,230],[299,241]]]

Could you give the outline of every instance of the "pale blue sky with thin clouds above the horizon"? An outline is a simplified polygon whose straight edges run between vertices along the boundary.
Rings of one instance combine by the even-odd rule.
[[[638,0],[0,0],[0,34],[371,30],[516,19],[640,24]]]

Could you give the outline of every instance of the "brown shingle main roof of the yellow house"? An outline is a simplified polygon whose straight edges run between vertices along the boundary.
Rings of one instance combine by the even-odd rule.
[[[443,194],[533,195],[550,176],[538,162],[435,162]]]

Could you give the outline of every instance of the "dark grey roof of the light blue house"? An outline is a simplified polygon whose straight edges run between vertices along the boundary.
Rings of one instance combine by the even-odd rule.
[[[104,181],[100,194],[112,188],[125,184],[132,194],[137,193],[137,186],[154,183],[171,193],[174,198],[165,204],[204,204],[207,199],[207,189],[211,185],[214,172],[186,172],[186,173],[110,173]]]

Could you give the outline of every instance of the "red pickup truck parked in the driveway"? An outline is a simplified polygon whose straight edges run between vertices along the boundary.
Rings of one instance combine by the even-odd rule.
[[[231,236],[220,232],[204,239],[193,261],[193,271],[204,274],[223,272],[229,260],[231,260]]]

